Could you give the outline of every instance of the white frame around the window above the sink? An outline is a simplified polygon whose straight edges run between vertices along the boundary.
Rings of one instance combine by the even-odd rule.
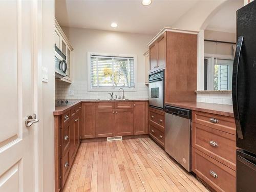
[[[92,88],[91,85],[91,55],[109,56],[109,57],[133,57],[134,58],[134,87],[106,87],[106,88]],[[87,90],[88,91],[103,91],[103,92],[115,92],[122,88],[124,91],[137,91],[137,55],[130,54],[113,54],[113,53],[87,53]]]

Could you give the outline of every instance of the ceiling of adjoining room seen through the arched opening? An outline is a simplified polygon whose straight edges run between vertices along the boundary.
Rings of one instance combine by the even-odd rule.
[[[244,6],[244,0],[230,0],[210,20],[207,30],[236,33],[236,12]]]

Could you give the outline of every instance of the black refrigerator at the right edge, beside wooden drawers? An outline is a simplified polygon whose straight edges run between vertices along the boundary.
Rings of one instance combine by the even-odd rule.
[[[237,129],[237,191],[256,191],[256,0],[237,11],[232,75]]]

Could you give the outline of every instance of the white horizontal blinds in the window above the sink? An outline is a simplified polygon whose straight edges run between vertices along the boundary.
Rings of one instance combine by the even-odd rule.
[[[91,55],[91,88],[135,87],[134,57]]]

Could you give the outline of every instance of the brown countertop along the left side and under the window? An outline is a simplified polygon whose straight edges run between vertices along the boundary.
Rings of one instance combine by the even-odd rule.
[[[133,101],[148,101],[148,99],[126,99],[126,100],[109,100],[109,99],[79,99],[79,100],[71,100],[75,101],[70,105],[67,106],[55,106],[55,111],[53,112],[53,115],[61,115],[68,111],[72,106],[75,106],[82,102],[133,102]]]

